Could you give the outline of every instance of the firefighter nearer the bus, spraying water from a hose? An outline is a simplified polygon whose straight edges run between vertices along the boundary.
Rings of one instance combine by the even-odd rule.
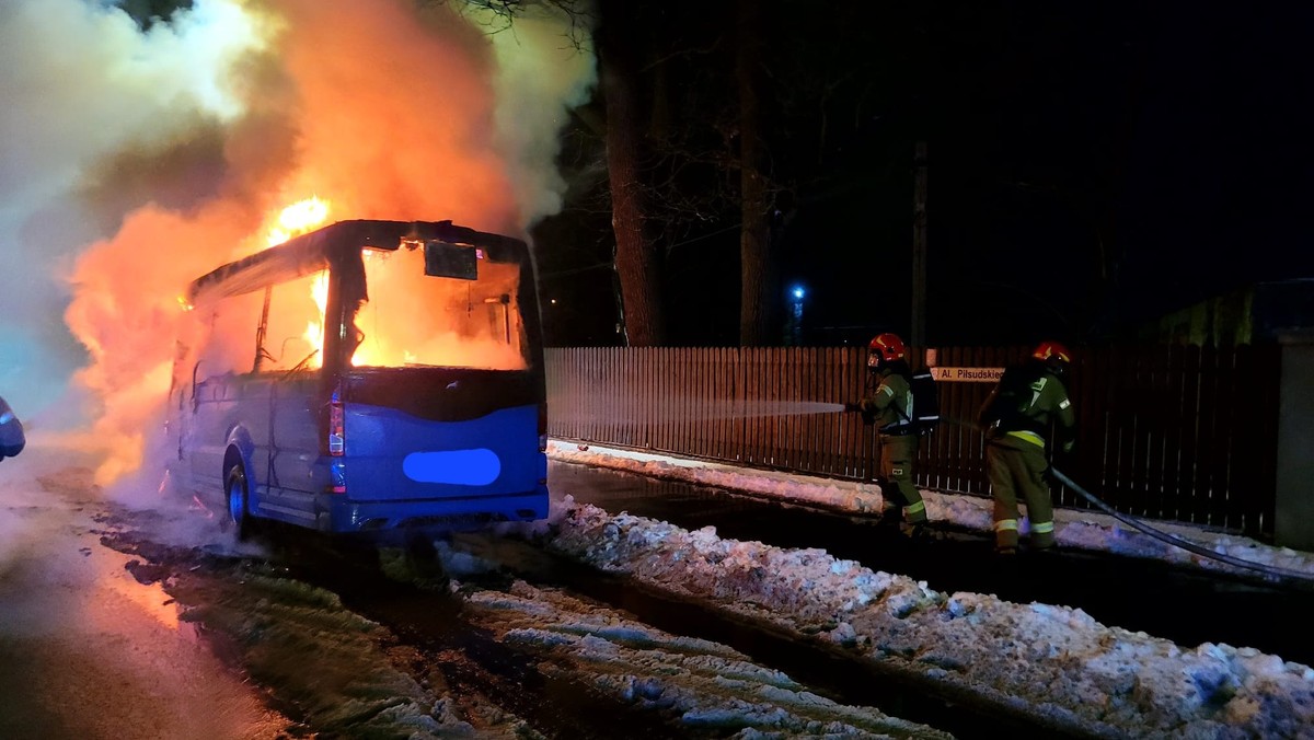
[[[845,407],[861,411],[863,422],[878,425],[879,478],[886,497],[882,520],[899,522],[901,503],[900,530],[917,538],[926,526],[926,503],[912,482],[912,463],[917,457],[917,430],[911,421],[912,369],[908,367],[908,350],[897,334],[879,334],[871,340],[867,346],[867,373],[869,393]]]

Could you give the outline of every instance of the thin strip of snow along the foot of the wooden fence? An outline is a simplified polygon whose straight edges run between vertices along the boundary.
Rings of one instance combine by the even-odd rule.
[[[628,471],[656,478],[723,488],[763,498],[854,514],[878,514],[884,505],[880,486],[870,482],[737,468],[703,460],[558,440],[549,442],[548,455],[562,463]],[[926,502],[926,514],[932,522],[945,522],[984,534],[993,531],[989,498],[951,496],[933,490],[922,490],[921,496]],[[1058,524],[1055,538],[1060,547],[1164,560],[1177,565],[1243,576],[1255,576],[1256,572],[1268,567],[1288,573],[1309,574],[1314,578],[1314,553],[1271,547],[1239,535],[1213,532],[1173,522],[1151,523],[1155,530],[1166,535],[1219,555],[1254,563],[1257,568],[1240,568],[1193,553],[1096,511],[1058,509],[1054,513],[1054,519]],[[1026,532],[1025,520],[1022,531]]]

